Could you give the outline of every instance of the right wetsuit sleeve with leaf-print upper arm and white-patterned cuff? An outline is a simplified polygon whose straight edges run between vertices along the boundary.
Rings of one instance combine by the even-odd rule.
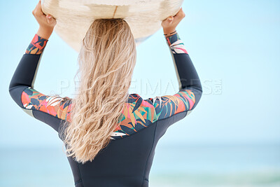
[[[179,92],[174,95],[149,98],[153,102],[158,120],[174,116],[176,113],[193,111],[202,96],[202,85],[195,66],[179,34],[166,38],[179,82]]]

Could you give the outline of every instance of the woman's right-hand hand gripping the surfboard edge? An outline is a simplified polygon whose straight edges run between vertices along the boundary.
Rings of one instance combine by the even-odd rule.
[[[165,20],[162,21],[162,29],[163,34],[169,34],[176,30],[177,25],[179,22],[185,18],[186,14],[183,12],[183,9],[180,8],[179,12],[176,13],[174,16],[169,16]]]

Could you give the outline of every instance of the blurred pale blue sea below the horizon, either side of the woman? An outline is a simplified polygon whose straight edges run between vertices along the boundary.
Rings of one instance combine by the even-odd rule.
[[[0,187],[69,187],[63,148],[2,147]],[[279,187],[280,145],[158,145],[151,187]]]

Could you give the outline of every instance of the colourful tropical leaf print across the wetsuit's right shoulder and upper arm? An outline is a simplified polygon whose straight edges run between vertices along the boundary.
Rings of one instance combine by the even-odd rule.
[[[112,133],[112,137],[119,139],[134,134],[157,120],[191,110],[194,104],[195,95],[191,90],[181,90],[175,95],[145,100],[137,94],[132,94],[123,107],[118,126]]]

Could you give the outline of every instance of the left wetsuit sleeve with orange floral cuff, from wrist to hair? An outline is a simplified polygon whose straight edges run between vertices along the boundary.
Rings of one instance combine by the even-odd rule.
[[[58,131],[60,121],[68,120],[71,99],[44,95],[34,89],[36,73],[47,43],[47,39],[35,34],[13,74],[9,92],[26,113]]]

